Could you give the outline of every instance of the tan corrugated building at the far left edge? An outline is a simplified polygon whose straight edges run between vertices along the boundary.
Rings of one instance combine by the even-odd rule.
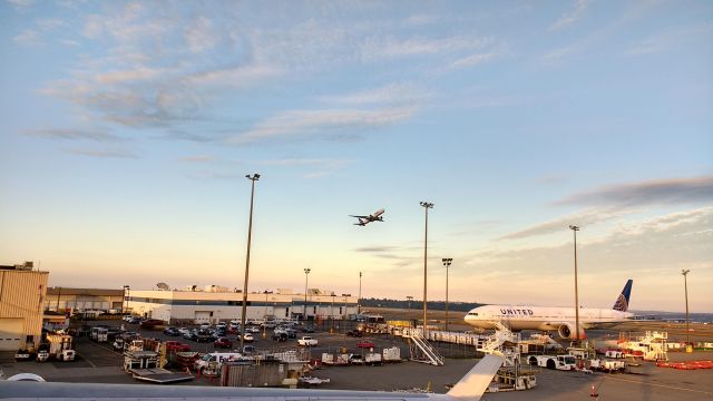
[[[0,265],[0,351],[33,349],[42,334],[49,272],[32,262]]]

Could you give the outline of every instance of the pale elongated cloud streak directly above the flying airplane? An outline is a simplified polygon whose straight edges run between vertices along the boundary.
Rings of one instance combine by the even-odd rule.
[[[258,123],[247,131],[227,139],[235,145],[247,145],[274,139],[340,138],[343,131],[363,131],[409,119],[413,107],[389,107],[375,110],[324,109],[291,110]]]

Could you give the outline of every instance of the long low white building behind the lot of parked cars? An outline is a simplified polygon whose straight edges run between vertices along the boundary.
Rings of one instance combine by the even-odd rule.
[[[193,286],[178,290],[131,290],[127,294],[128,311],[133,314],[159,319],[173,324],[217,323],[241,319],[243,294],[211,286],[201,291]],[[306,301],[305,301],[306,299]],[[246,319],[346,319],[358,312],[358,299],[350,294],[336,295],[316,288],[307,295],[292,291],[248,293]]]

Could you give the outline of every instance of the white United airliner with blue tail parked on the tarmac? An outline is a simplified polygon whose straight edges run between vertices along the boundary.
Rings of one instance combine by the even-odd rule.
[[[626,282],[611,310],[579,309],[579,339],[586,338],[587,329],[605,329],[634,317],[633,313],[627,312],[633,283],[633,280]],[[479,329],[496,329],[499,322],[512,331],[557,331],[561,339],[576,338],[574,307],[485,305],[470,310],[465,321]]]

